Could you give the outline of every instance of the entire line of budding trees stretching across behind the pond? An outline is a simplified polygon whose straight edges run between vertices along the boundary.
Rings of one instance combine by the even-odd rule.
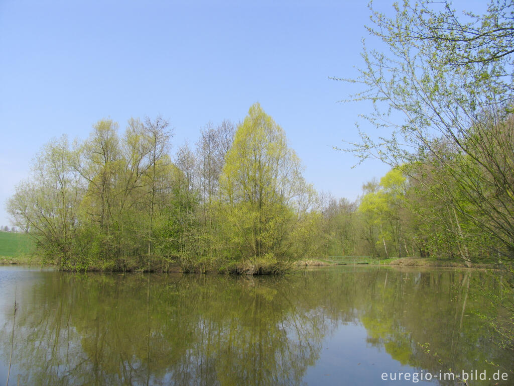
[[[350,202],[305,182],[283,129],[259,104],[237,127],[208,124],[196,149],[182,145],[173,160],[171,138],[157,117],[130,119],[122,135],[100,120],[84,142],[50,142],[8,202],[14,225],[64,270],[278,273],[341,255],[511,257],[501,234],[476,225],[481,214],[448,183],[448,165],[402,165]]]

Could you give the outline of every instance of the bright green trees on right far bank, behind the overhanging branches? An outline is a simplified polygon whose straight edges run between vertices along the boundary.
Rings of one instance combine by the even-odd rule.
[[[379,258],[434,257],[465,264],[512,261],[508,245],[475,224],[491,218],[472,208],[460,186],[448,183],[451,173],[434,170],[432,164],[404,164],[379,182],[364,184],[355,212],[339,215],[339,221],[348,221],[347,228],[354,230],[355,253]],[[485,186],[480,189],[491,196],[495,192]],[[450,204],[449,197],[460,209]]]

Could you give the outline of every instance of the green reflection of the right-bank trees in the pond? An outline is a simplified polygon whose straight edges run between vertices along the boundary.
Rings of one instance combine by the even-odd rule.
[[[470,286],[476,276],[475,286]],[[382,301],[361,314],[369,342],[402,364],[436,373],[497,369],[512,371],[514,353],[500,349],[479,312],[495,314],[480,287],[493,286],[480,271],[391,272]],[[380,280],[375,285],[379,286]]]

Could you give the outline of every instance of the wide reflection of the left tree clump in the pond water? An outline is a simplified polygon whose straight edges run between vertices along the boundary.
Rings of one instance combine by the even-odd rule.
[[[14,358],[21,382],[299,384],[326,323],[299,308],[286,283],[271,284],[49,275],[21,302]]]

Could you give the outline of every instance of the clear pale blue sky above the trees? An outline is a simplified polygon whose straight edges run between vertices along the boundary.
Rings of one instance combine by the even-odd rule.
[[[362,59],[364,1],[0,0],[0,225],[3,203],[52,137],[86,138],[104,117],[162,114],[173,149],[250,105],[287,133],[318,190],[355,199],[388,167],[352,169],[332,149],[358,139],[366,106],[340,103]],[[352,87],[354,87],[352,89]]]

